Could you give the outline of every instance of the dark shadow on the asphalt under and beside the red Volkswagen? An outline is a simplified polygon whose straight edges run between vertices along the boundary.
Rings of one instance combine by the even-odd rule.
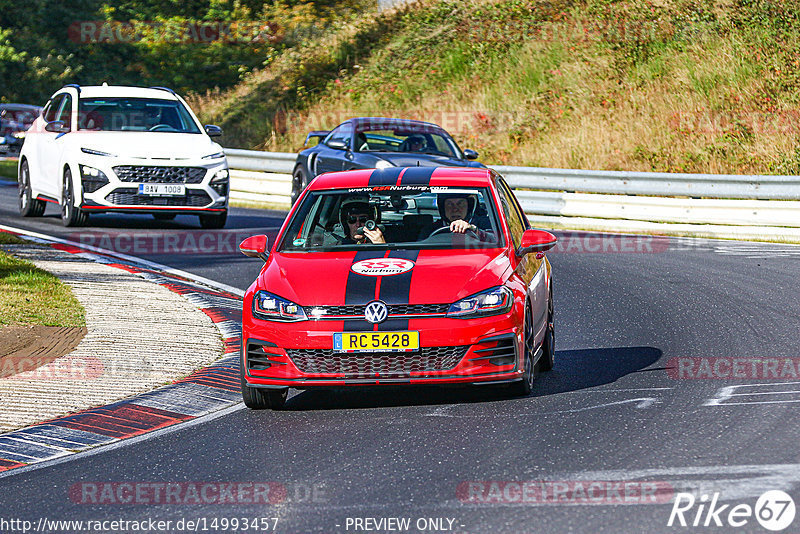
[[[653,347],[613,347],[556,351],[556,366],[540,374],[533,397],[602,386],[644,370],[661,358]],[[286,411],[352,410],[498,402],[514,398],[506,386],[354,386],[301,391]]]

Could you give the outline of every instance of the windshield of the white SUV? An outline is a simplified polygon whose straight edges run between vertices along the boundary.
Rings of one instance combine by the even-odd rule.
[[[177,100],[156,98],[81,98],[78,129],[109,132],[200,133]]]

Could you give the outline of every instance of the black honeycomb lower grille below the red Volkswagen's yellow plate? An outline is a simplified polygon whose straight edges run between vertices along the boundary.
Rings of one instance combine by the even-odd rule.
[[[468,346],[423,347],[419,352],[334,352],[331,349],[287,349],[303,373],[350,376],[397,376],[412,372],[447,371],[458,365]]]

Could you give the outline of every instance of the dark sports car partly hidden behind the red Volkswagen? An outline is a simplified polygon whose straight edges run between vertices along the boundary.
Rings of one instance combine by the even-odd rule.
[[[442,127],[429,122],[361,117],[306,136],[318,144],[302,150],[292,172],[292,204],[324,172],[388,167],[484,167],[478,153],[462,151]]]

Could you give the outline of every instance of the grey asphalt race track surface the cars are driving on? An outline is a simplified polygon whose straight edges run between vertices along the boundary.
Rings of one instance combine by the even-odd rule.
[[[0,185],[0,224],[92,235],[97,246],[106,234],[120,252],[240,289],[260,267],[227,237],[201,246],[213,232],[196,217],[101,215],[65,229],[57,212],[21,219],[16,188]],[[232,209],[222,234],[274,236],[283,215]],[[158,245],[153,235],[166,233],[192,234],[196,248]],[[196,520],[199,531],[231,531],[232,518],[265,518],[259,532],[277,518],[281,533],[767,532],[755,517],[738,528],[727,521],[767,490],[800,502],[800,247],[560,235],[549,254],[556,367],[530,397],[494,387],[295,393],[282,412],[242,408],[0,478],[2,517],[34,527],[42,518],[152,519],[174,532]],[[752,376],[737,358],[765,358],[775,372]],[[269,483],[270,493],[255,504],[247,491],[189,499],[186,488],[203,483],[218,493]],[[143,496],[92,501],[126,484],[124,495]],[[184,493],[154,497],[157,484]],[[707,510],[719,493],[724,526],[703,511],[700,526],[668,527],[678,492],[697,496],[689,524],[702,496]],[[783,532],[800,532],[800,518]]]

